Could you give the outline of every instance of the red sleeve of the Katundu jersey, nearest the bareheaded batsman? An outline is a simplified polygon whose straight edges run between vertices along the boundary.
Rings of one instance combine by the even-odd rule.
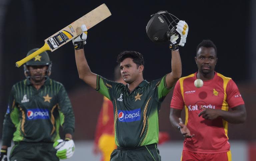
[[[170,107],[175,108],[175,109],[180,109],[180,110],[182,110],[184,107],[184,101],[183,101],[183,97],[182,97],[181,90],[180,90],[180,81],[179,80],[177,81],[177,83],[174,87]]]

